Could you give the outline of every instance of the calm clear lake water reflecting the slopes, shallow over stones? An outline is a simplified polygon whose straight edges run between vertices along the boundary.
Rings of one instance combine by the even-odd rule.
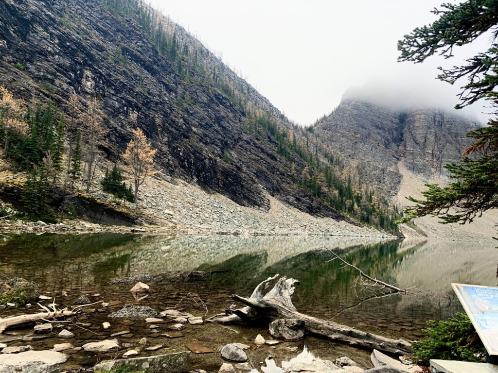
[[[373,277],[413,285],[421,292],[411,297],[372,299],[349,308],[369,294],[355,286],[355,271],[341,268],[337,261],[327,262],[330,255],[319,250],[322,244],[341,252],[346,260]],[[69,304],[81,292],[99,293],[99,297],[91,299],[110,302],[111,311],[125,303],[139,303],[161,311],[175,306],[183,296],[193,292],[206,303],[208,315],[212,315],[232,304],[229,299],[232,293],[250,295],[258,282],[278,273],[301,281],[294,295],[294,304],[304,313],[385,336],[416,339],[425,320],[444,318],[461,311],[451,290],[451,282],[495,285],[495,246],[493,242],[375,243],[359,239],[318,242],[306,237],[13,235],[0,243],[0,274],[36,281],[42,293],[54,295],[61,305]],[[188,281],[170,279],[150,283],[150,295],[139,302],[129,293],[130,284],[109,283],[134,274],[157,275],[166,271],[192,270],[209,274]],[[67,298],[61,295],[62,290],[68,292]],[[200,309],[189,311],[204,316]],[[17,311],[22,312],[24,310]],[[190,341],[202,342],[216,351],[226,343],[250,342],[257,333],[265,333],[264,329],[257,327],[231,326],[229,330],[209,324],[187,328],[183,339],[164,340],[150,334],[143,323],[123,326],[108,319],[109,312],[99,313],[97,310],[85,314],[80,321],[92,323],[92,326],[86,328],[89,330],[73,328],[77,335],[73,344],[108,338],[107,334],[128,328],[134,335],[129,341],[120,340],[122,343],[135,343],[135,339],[146,336],[155,339],[151,345],[167,344],[161,352],[184,350],[183,343]],[[7,313],[0,311],[0,316]],[[113,324],[109,333],[105,331],[107,334],[99,328],[103,321]],[[165,331],[167,329],[161,330]],[[27,332],[14,331],[24,333],[22,335]],[[32,345],[36,348],[39,344],[41,349],[54,343],[60,343],[57,337]],[[304,343],[324,358],[354,355],[367,365],[368,354],[365,352],[310,337],[297,345]],[[293,345],[296,343],[282,343],[273,350],[258,349],[249,353],[249,357],[252,354],[252,359],[262,360],[267,354],[273,354],[276,358],[284,358],[288,353],[281,347]],[[98,359],[93,355],[83,359],[80,355],[74,355],[68,361],[70,367],[71,364],[75,367],[90,365]],[[218,354],[195,356],[191,365],[204,368],[211,365],[215,369],[221,365],[221,360]]]

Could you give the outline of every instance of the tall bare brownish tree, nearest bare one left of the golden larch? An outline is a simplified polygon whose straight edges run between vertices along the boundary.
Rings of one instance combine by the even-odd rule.
[[[83,139],[86,144],[86,160],[87,160],[87,189],[90,191],[90,186],[95,175],[95,168],[99,164],[97,158],[97,145],[101,141],[108,129],[104,125],[104,113],[102,111],[102,102],[93,97],[88,101],[87,109],[82,114],[81,119]]]

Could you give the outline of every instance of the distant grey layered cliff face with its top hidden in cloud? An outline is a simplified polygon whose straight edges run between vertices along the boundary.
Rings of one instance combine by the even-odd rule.
[[[444,177],[443,166],[460,159],[470,145],[465,134],[478,125],[436,109],[396,110],[350,97],[319,121],[315,133],[358,165],[363,180],[393,196],[402,178],[398,162],[424,178]]]

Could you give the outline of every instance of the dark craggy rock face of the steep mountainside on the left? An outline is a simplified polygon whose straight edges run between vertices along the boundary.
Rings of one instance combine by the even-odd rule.
[[[165,174],[241,205],[268,210],[268,192],[301,211],[344,219],[295,184],[292,163],[278,154],[275,136],[263,127],[253,133],[240,102],[291,131],[285,116],[173,23],[168,28],[185,49],[196,50],[196,65],[202,67],[191,64],[187,79],[140,25],[100,1],[2,1],[0,84],[28,102],[50,98],[62,108],[72,93],[102,97],[110,131],[99,146],[111,160],[123,153],[138,126],[158,149],[155,161]],[[18,62],[24,69],[15,68]],[[204,69],[221,72],[238,98],[206,79]],[[304,167],[297,154],[290,157]]]

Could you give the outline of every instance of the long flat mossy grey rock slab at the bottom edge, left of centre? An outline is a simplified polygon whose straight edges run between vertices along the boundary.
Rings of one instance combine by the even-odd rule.
[[[180,373],[185,361],[190,355],[189,351],[175,354],[155,355],[125,360],[110,360],[95,366],[95,371],[112,371],[121,367],[131,371],[144,371],[145,373]]]

